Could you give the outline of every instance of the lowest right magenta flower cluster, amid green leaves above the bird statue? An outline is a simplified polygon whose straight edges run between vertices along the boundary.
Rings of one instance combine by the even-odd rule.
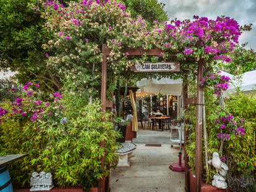
[[[218,138],[228,140],[231,136],[244,136],[245,130],[242,127],[244,125],[244,119],[234,118],[232,114],[222,111],[216,111],[218,119],[215,120],[216,128],[220,130]]]

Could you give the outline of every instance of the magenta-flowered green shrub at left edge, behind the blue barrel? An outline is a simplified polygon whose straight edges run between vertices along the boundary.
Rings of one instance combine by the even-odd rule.
[[[56,112],[57,102],[41,101],[38,86],[30,82],[22,90],[12,88],[14,99],[0,104],[0,155],[28,154],[11,165],[14,187],[28,186],[31,173],[36,170],[30,161],[38,157],[48,141],[40,128],[41,120],[53,118],[51,114]]]

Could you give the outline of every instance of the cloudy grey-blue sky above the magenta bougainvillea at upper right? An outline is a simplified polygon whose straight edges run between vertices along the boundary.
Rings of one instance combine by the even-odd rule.
[[[165,4],[169,20],[192,19],[193,15],[216,19],[220,15],[237,20],[239,25],[252,23],[252,30],[245,31],[239,43],[248,42],[247,48],[256,50],[256,0],[158,0]]]

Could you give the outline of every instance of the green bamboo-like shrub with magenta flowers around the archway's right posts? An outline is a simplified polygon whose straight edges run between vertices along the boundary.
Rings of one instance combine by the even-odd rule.
[[[256,130],[256,99],[252,95],[242,93],[234,94],[226,99],[226,111],[220,109],[218,100],[213,94],[214,90],[204,89],[206,122],[207,122],[207,143],[208,157],[211,158],[213,152],[220,152],[221,140],[223,140],[222,161],[226,162],[228,170],[228,185],[235,187],[234,180],[241,183],[255,181],[256,159],[255,159],[255,130]],[[216,112],[219,111],[219,112]],[[195,170],[195,107],[189,106],[186,112],[186,118],[192,125],[187,126],[189,129],[189,141],[186,147],[187,156],[189,157],[189,166],[192,172]],[[229,117],[229,119],[228,119]],[[245,119],[245,120],[243,120]],[[224,126],[225,127],[224,127]],[[221,127],[223,126],[223,127]],[[226,137],[228,136],[228,138]],[[204,149],[202,149],[204,151]],[[210,155],[210,156],[209,156]],[[205,175],[205,160],[202,158],[203,175]],[[244,175],[250,172],[250,177]],[[208,177],[203,177],[208,183],[211,182],[215,169],[209,167]],[[240,175],[243,175],[240,178]],[[255,182],[252,182],[255,185]]]

